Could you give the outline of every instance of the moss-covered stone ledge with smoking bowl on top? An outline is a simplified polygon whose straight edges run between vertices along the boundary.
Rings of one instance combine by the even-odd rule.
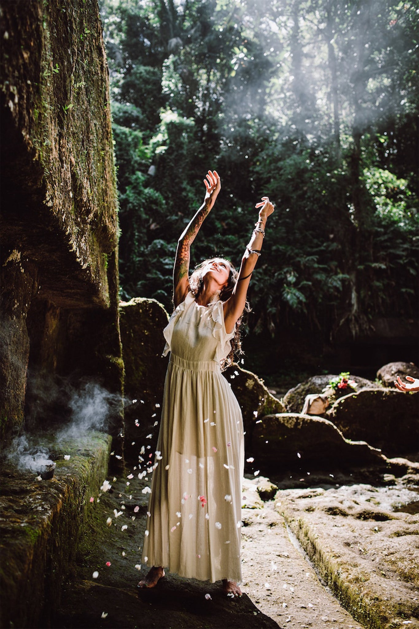
[[[36,480],[36,472],[2,466],[3,627],[50,626],[63,578],[106,478],[111,437],[89,433],[82,440],[57,443],[45,435],[40,445],[48,447],[56,460],[52,479]]]

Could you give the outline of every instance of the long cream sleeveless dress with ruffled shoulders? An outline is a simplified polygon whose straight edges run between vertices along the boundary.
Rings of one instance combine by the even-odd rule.
[[[240,582],[243,423],[220,370],[234,332],[221,301],[199,306],[188,292],[163,333],[163,355],[171,353],[142,560],[183,577]]]

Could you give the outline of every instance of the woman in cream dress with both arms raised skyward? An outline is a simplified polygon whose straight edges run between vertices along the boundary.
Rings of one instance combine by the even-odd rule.
[[[268,197],[256,204],[259,220],[238,275],[230,262],[214,258],[188,277],[190,245],[221,187],[215,170],[206,177],[204,203],[178,241],[173,269],[175,311],[163,332],[163,353],[171,353],[142,559],[151,570],[138,585],[154,587],[168,566],[184,577],[221,579],[226,594],[241,596],[243,426],[220,367],[231,361],[274,206]]]

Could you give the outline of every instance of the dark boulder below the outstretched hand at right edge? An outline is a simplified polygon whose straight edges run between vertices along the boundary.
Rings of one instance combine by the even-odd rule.
[[[364,389],[337,400],[327,416],[348,439],[362,439],[396,456],[416,452],[418,393]]]

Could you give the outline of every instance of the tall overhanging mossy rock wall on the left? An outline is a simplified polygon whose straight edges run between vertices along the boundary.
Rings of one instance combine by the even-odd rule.
[[[122,392],[117,197],[97,0],[1,7],[1,439],[31,377]],[[122,406],[114,418],[117,438]],[[117,444],[122,449],[122,444]]]

